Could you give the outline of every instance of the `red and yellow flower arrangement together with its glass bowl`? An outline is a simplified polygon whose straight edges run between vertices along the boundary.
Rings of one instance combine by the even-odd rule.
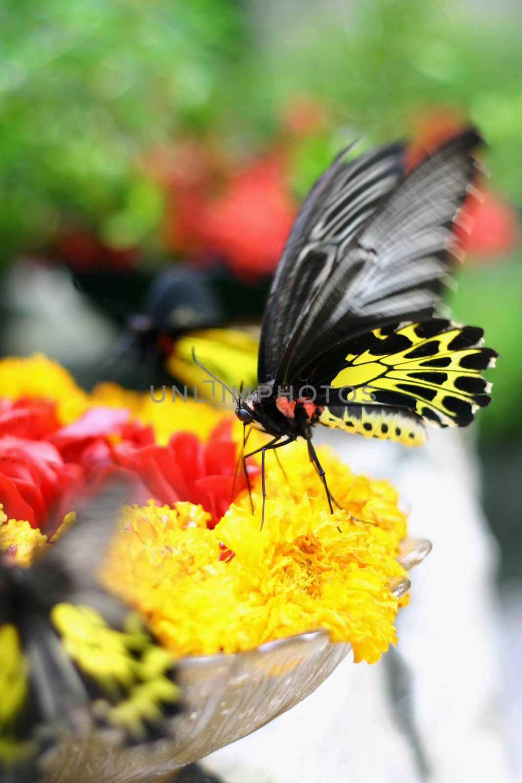
[[[113,384],[87,394],[44,357],[3,360],[0,381],[4,561],[45,557],[74,526],[73,498],[100,476],[133,475],[136,502],[100,542],[98,579],[145,619],[182,693],[164,738],[130,746],[95,720],[60,735],[38,760],[46,781],[167,776],[290,709],[347,655],[371,663],[395,644],[408,568],[430,547],[408,538],[388,482],[322,449],[340,506],[330,514],[293,443],[266,462],[260,529],[259,467],[247,468],[252,511],[228,414]]]

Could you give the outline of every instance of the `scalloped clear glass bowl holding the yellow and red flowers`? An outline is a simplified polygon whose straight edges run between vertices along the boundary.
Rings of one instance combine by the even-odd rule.
[[[398,561],[407,570],[430,552],[426,539],[407,538]],[[409,579],[390,580],[400,597]],[[185,710],[175,738],[149,746],[121,745],[113,731],[61,742],[44,758],[45,783],[170,781],[176,770],[245,737],[315,691],[351,654],[325,630],[301,633],[234,655],[193,656],[178,662]]]

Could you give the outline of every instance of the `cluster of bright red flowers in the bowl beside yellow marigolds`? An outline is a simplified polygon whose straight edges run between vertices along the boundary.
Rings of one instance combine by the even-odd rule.
[[[49,535],[77,507],[80,491],[88,495],[114,473],[135,479],[135,502],[152,496],[168,505],[200,503],[214,526],[246,486],[243,471],[234,481],[235,471],[229,421],[207,443],[178,432],[158,446],[153,429],[128,421],[122,408],[95,407],[60,427],[52,402],[0,401],[0,502],[8,518],[26,519]]]

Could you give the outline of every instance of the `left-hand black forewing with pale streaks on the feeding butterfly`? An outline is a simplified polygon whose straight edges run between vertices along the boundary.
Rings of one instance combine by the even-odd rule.
[[[400,143],[353,161],[348,147],[304,200],[275,272],[263,316],[257,376],[271,381],[303,313],[343,260],[344,249],[403,175]]]

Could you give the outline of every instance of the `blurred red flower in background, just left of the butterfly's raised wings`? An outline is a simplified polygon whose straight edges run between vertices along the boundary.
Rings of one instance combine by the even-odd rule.
[[[167,188],[171,249],[200,265],[220,259],[243,279],[275,269],[296,212],[283,151],[239,165],[185,143],[153,168]]]

